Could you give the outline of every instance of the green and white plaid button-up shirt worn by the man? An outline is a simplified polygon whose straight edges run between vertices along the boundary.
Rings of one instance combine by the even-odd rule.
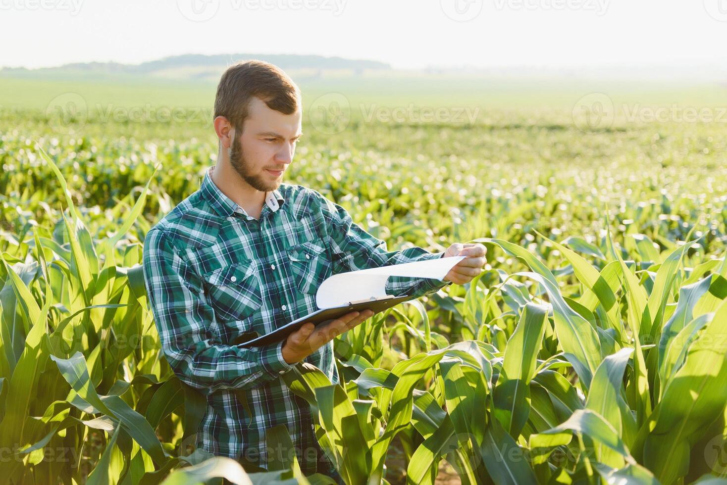
[[[315,311],[316,290],[332,274],[442,253],[387,251],[344,208],[300,185],[282,184],[266,196],[254,219],[207,171],[200,189],[146,235],[147,294],[172,370],[206,394],[197,445],[265,467],[265,430],[284,424],[302,451],[304,472],[313,473],[315,464],[303,460],[317,448],[310,408],[280,378],[292,368],[282,344],[243,349],[239,343]],[[449,284],[391,277],[387,294],[422,296]],[[305,361],[338,382],[332,342]]]

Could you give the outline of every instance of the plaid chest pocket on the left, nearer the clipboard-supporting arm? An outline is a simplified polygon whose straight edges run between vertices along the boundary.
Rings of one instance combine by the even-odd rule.
[[[202,277],[218,321],[242,320],[260,309],[260,280],[252,259],[223,266]]]

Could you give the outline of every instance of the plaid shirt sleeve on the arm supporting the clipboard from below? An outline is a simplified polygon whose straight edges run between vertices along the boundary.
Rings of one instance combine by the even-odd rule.
[[[214,309],[204,296],[201,278],[163,229],[148,232],[143,266],[161,349],[182,382],[209,395],[261,386],[292,368],[283,359],[282,343],[244,349],[214,342]]]

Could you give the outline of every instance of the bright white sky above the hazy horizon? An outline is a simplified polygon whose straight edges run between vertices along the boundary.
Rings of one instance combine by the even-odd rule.
[[[0,66],[318,54],[427,67],[727,66],[727,0],[0,0]]]

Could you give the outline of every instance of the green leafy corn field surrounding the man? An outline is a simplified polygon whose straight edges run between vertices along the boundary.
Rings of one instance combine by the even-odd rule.
[[[302,476],[284,428],[267,472],[193,449],[206,401],[161,354],[139,264],[216,139],[33,116],[0,112],[3,481],[334,483]],[[304,126],[287,183],[390,248],[488,249],[470,284],[337,338],[340,384],[284,376],[347,484],[434,484],[445,463],[462,484],[727,483],[723,132],[563,119]]]

